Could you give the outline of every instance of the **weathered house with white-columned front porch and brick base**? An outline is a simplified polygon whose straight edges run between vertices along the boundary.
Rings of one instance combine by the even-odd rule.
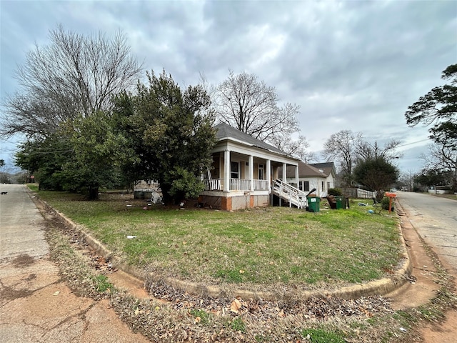
[[[298,182],[299,159],[228,124],[218,124],[215,129],[213,164],[205,174],[205,190],[199,197],[205,206],[225,210],[266,207],[272,192],[283,190],[276,180],[285,181],[286,174],[279,169],[290,169],[295,175],[291,179]]]

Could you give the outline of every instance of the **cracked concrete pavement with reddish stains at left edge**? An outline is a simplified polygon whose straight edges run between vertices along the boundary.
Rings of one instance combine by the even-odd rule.
[[[22,185],[1,184],[0,342],[149,342],[107,300],[76,297],[49,260],[44,218]]]

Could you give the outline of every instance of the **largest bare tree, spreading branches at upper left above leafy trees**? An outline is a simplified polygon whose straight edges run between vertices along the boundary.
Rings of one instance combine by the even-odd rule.
[[[62,26],[50,31],[51,43],[38,46],[16,70],[21,89],[8,96],[0,134],[46,136],[77,114],[109,109],[113,94],[134,86],[141,74],[121,32],[83,36]]]

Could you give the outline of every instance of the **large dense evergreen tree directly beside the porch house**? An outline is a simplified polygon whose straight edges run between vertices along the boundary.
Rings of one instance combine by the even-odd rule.
[[[202,86],[182,91],[165,71],[147,77],[149,84],[138,84],[136,94],[119,94],[114,101],[118,127],[139,157],[124,170],[159,181],[168,203],[196,197],[216,140],[209,95]]]

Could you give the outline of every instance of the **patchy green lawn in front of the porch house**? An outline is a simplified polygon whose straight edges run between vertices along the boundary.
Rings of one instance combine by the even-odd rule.
[[[318,213],[287,207],[224,212],[147,207],[127,195],[87,202],[76,194],[38,194],[129,264],[164,277],[313,289],[381,278],[401,258],[396,215],[368,214],[370,207],[357,202]]]

